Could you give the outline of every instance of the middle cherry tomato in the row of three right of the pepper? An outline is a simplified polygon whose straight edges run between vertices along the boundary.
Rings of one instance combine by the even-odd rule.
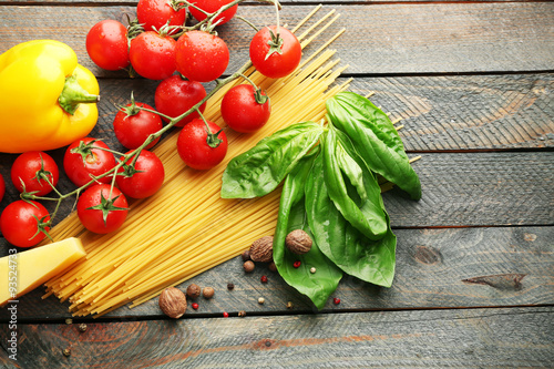
[[[129,58],[136,73],[150,80],[163,80],[175,72],[176,41],[147,31],[131,41]]]

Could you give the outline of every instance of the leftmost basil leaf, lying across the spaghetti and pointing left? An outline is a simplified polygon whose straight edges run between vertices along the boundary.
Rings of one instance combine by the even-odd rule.
[[[274,191],[318,142],[324,129],[314,122],[289,125],[234,157],[223,174],[223,198],[252,198]]]

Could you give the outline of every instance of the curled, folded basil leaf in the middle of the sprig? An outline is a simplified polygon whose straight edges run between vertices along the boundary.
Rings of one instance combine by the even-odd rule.
[[[379,184],[369,171],[365,171],[366,175],[363,175],[362,182],[367,198],[351,197],[352,192],[345,183],[339,165],[340,161],[337,160],[337,147],[348,146],[349,142],[338,139],[338,134],[332,124],[329,124],[322,148],[324,178],[329,197],[342,216],[365,236],[371,239],[382,238],[387,233],[387,221]],[[348,155],[346,150],[343,150],[342,155]],[[350,161],[353,160],[350,156]]]

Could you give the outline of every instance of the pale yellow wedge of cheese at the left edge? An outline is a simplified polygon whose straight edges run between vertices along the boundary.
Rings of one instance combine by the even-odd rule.
[[[0,258],[0,306],[44,284],[85,255],[81,239],[71,237]]]

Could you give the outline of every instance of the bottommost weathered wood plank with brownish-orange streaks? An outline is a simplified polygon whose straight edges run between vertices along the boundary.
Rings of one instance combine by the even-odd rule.
[[[6,368],[547,368],[554,309],[387,311],[18,325]],[[71,348],[71,356],[62,350]]]

